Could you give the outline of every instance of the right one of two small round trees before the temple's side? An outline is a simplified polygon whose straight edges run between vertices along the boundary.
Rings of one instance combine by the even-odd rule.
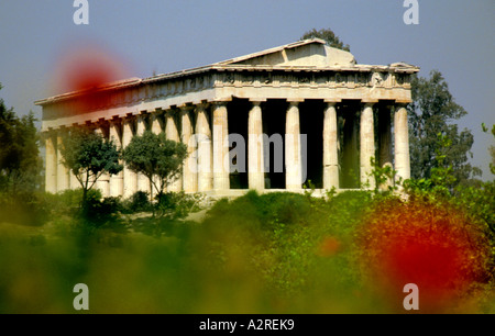
[[[160,200],[165,187],[182,173],[187,146],[166,139],[164,133],[146,131],[131,139],[122,156],[129,169],[150,180],[150,186],[155,188]]]

